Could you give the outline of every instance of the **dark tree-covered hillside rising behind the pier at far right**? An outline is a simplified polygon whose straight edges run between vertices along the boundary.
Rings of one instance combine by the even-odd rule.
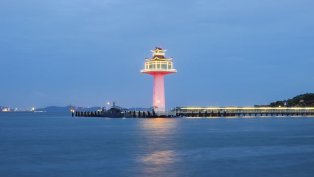
[[[314,93],[306,93],[283,101],[271,102],[269,105],[254,107],[314,107]]]

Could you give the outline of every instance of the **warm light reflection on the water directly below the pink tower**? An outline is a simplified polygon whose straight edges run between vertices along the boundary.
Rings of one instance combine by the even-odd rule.
[[[153,118],[143,119],[139,124],[141,142],[140,154],[136,157],[141,175],[154,176],[157,173],[169,173],[179,176],[178,171],[173,171],[175,164],[180,161],[176,152],[177,119]]]

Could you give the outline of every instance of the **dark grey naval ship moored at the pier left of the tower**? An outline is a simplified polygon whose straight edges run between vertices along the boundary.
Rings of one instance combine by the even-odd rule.
[[[133,115],[130,111],[120,109],[119,106],[115,106],[115,102],[113,102],[113,106],[109,110],[102,110],[102,117],[104,118],[132,118]]]

